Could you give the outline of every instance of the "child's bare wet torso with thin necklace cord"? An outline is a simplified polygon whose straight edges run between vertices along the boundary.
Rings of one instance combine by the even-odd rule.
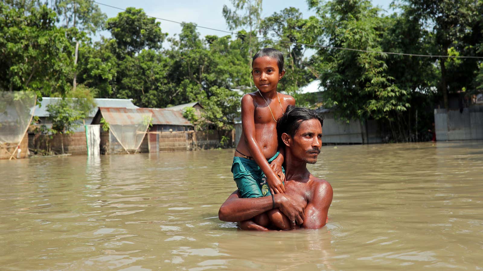
[[[255,124],[255,140],[265,158],[270,159],[278,150],[277,140],[277,122],[282,117],[283,112],[290,104],[295,104],[295,100],[290,95],[278,94],[280,97],[280,104],[278,98],[275,96],[270,103],[270,109],[267,107],[267,102],[261,97],[258,92],[249,94],[253,97],[255,106],[254,124]],[[273,113],[273,117],[272,117]],[[244,125],[244,123],[242,123]],[[252,156],[246,142],[246,136],[241,133],[240,141],[238,142],[237,150],[241,153]],[[240,153],[235,152],[235,156],[243,157]]]

